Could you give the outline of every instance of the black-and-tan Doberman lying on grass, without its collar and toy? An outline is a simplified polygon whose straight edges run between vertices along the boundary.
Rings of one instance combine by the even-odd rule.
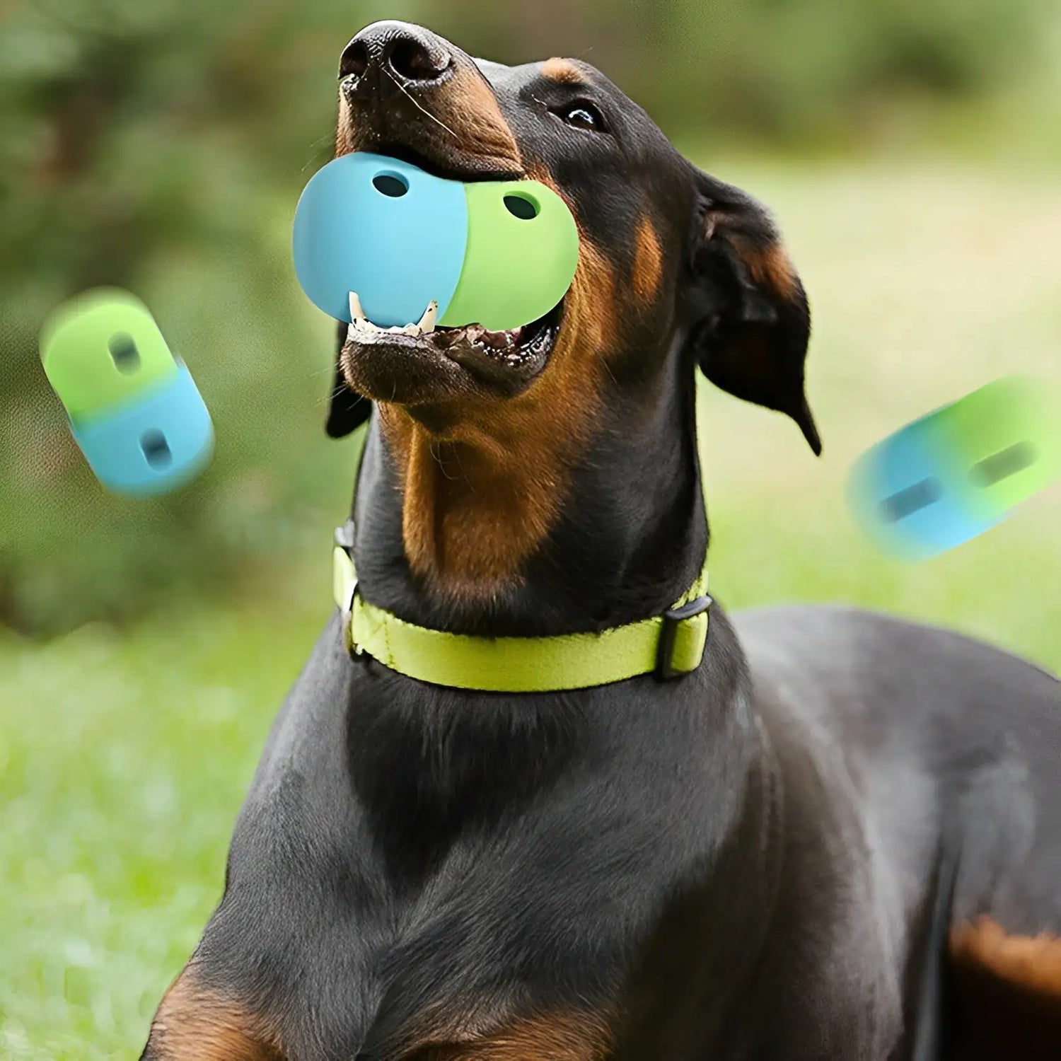
[[[694,375],[820,450],[770,215],[582,62],[388,21],[338,72],[337,154],[532,177],[580,233],[514,333],[340,327],[356,592],[484,639],[664,615],[708,545]],[[351,653],[336,610],[142,1058],[1061,1056],[1057,679],[856,610],[708,614],[689,673],[499,693]]]

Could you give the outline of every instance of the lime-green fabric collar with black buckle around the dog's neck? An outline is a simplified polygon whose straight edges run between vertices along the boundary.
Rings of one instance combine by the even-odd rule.
[[[697,402],[702,490],[705,432],[699,406]],[[367,431],[367,424],[359,429],[359,468]],[[712,603],[707,556],[696,580],[662,615],[595,633],[484,638],[417,626],[366,601],[358,589],[352,521],[335,532],[333,555],[333,591],[347,650],[371,656],[419,681],[491,693],[545,693],[607,685],[643,674],[667,680],[695,671],[703,658]]]

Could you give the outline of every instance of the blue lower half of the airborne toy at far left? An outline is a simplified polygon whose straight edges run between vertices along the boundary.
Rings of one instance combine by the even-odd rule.
[[[213,451],[210,414],[187,366],[142,400],[109,416],[70,424],[74,440],[105,487],[143,497],[166,493],[194,476]]]

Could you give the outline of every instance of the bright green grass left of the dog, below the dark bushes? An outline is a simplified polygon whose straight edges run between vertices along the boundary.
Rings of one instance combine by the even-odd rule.
[[[203,611],[0,647],[0,1057],[137,1056],[316,623]]]

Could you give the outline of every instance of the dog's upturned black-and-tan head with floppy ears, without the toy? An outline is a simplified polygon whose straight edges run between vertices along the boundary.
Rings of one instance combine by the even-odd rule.
[[[419,27],[377,22],[344,49],[338,77],[336,154],[389,154],[463,180],[533,177],[571,208],[581,245],[563,300],[516,332],[349,342],[341,329],[330,434],[367,416],[354,395],[439,437],[522,420],[521,408],[540,432],[585,434],[608,405],[603,388],[653,393],[646,383],[684,358],[787,413],[820,449],[803,392],[807,302],[769,214],[689,163],[597,70],[500,66]]]

